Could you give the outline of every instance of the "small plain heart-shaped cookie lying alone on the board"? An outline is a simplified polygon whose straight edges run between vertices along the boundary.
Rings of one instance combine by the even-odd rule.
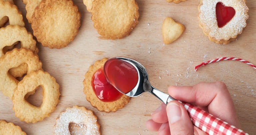
[[[164,44],[171,44],[177,40],[184,30],[185,27],[181,23],[175,22],[171,17],[166,17],[162,26]]]

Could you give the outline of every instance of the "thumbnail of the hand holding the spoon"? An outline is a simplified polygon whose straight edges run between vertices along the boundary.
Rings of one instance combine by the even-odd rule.
[[[181,119],[181,109],[176,103],[169,103],[166,107],[169,123],[174,123]]]

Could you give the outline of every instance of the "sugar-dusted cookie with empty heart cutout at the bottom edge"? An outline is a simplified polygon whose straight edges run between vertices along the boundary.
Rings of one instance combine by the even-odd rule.
[[[81,128],[82,133],[81,131],[70,133],[69,125],[71,123],[77,124]],[[100,124],[93,111],[87,110],[83,106],[74,106],[61,112],[54,125],[54,135],[70,134],[100,135]]]

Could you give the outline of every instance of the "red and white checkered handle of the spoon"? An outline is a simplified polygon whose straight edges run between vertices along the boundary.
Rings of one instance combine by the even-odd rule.
[[[200,108],[189,103],[179,102],[187,109],[192,123],[209,135],[248,135],[243,130],[214,117]]]

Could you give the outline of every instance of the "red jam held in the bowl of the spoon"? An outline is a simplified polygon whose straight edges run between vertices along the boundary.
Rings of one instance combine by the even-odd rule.
[[[104,65],[108,81],[123,93],[130,92],[138,83],[138,72],[131,64],[110,59]]]

